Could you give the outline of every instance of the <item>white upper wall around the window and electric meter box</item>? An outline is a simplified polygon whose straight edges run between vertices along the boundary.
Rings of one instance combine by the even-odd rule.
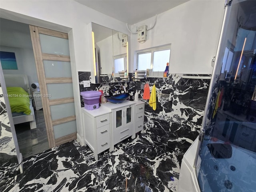
[[[148,40],[140,44],[137,34],[131,35],[131,56],[142,50],[172,44],[170,69],[172,74],[212,74],[211,60],[216,55],[224,15],[224,0],[190,0],[157,16],[156,25],[148,30]],[[131,28],[153,26],[155,17]],[[136,67],[136,58],[131,58]],[[164,64],[165,65],[165,64]],[[130,72],[133,69],[130,69]]]

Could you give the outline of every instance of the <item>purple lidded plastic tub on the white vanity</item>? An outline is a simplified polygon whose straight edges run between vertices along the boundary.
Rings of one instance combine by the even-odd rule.
[[[99,108],[100,104],[100,91],[83,91],[80,95],[84,99],[84,108],[87,110],[94,110]]]

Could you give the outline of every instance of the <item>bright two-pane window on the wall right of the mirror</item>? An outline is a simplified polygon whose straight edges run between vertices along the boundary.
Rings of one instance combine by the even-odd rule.
[[[164,71],[166,63],[170,63],[171,44],[139,50],[137,54],[137,69]]]

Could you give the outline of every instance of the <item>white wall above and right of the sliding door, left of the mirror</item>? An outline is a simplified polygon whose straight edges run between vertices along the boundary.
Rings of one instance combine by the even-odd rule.
[[[90,71],[88,24],[128,34],[126,24],[72,0],[1,0],[0,17],[69,34],[77,132],[81,134],[78,71]]]

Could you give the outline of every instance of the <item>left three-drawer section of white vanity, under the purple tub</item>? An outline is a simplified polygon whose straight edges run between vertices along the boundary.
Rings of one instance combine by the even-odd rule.
[[[82,108],[82,126],[84,130],[84,143],[94,152],[95,160],[98,154],[111,146],[110,141],[110,114],[107,108],[86,110]]]

